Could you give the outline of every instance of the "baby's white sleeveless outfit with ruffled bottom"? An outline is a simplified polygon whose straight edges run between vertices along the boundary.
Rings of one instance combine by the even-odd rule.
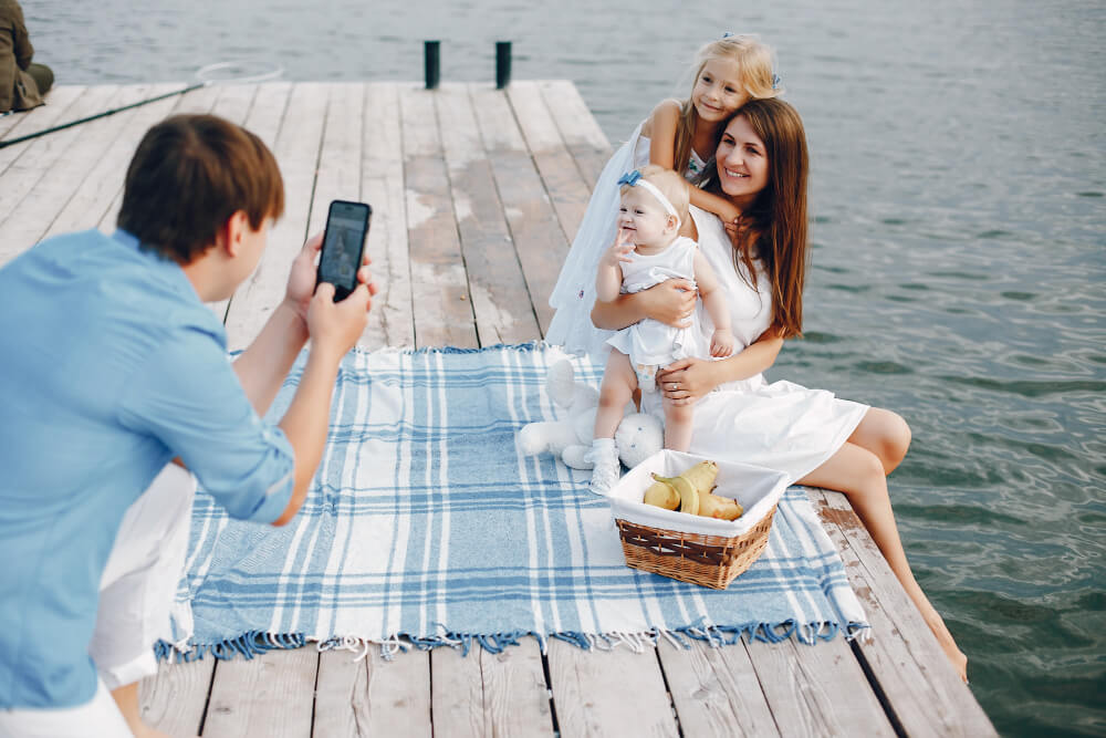
[[[622,291],[640,292],[675,278],[695,281],[695,254],[698,250],[695,241],[679,236],[660,253],[645,256],[632,251],[630,260],[622,262]],[[607,339],[607,344],[629,356],[635,367],[668,366],[687,356],[706,358],[710,355],[710,344],[703,343],[697,320],[681,329],[646,318],[616,331]],[[651,391],[651,387],[645,386],[646,378],[651,374],[655,371],[638,373],[644,392]]]

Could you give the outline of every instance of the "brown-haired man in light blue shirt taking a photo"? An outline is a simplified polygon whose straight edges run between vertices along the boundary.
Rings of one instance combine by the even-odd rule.
[[[187,544],[181,466],[236,518],[280,526],[303,503],[375,288],[363,268],[342,302],[314,290],[311,239],[231,364],[204,303],[249,277],[283,208],[260,139],[177,116],[138,145],[115,235],[53,238],[0,269],[0,735],[159,735],[137,683]]]

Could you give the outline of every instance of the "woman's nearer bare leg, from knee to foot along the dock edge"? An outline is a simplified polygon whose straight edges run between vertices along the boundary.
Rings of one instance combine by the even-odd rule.
[[[945,621],[921,591],[907,562],[898,527],[895,524],[890,496],[887,493],[887,478],[884,471],[886,466],[887,459],[862,446],[846,443],[830,457],[830,460],[799,481],[802,485],[834,489],[848,497],[853,510],[868,529],[872,540],[879,547],[902,589],[918,607],[929,630],[937,636],[938,643],[960,674],[960,678],[967,682],[968,657],[957,647]]]

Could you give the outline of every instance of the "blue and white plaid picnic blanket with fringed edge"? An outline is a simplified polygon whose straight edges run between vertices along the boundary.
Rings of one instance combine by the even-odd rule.
[[[625,565],[588,472],[523,456],[519,428],[554,419],[544,344],[355,351],[330,443],[283,528],[231,520],[202,492],[167,657],[247,656],[319,642],[497,651],[532,634],[583,647],[742,633],[805,642],[864,626],[828,537],[797,488],[761,559],[726,591]],[[576,376],[598,382],[586,360]],[[280,417],[303,366],[271,410]]]

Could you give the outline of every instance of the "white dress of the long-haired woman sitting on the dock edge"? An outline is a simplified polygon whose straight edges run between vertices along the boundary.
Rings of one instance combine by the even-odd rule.
[[[752,344],[772,322],[772,287],[758,272],[757,289],[733,266],[730,239],[716,216],[691,206],[699,250],[718,274],[730,310],[734,353]],[[744,267],[739,267],[744,273]],[[709,343],[714,326],[699,302],[699,329]],[[643,408],[664,417],[661,394],[643,397]],[[762,374],[730,382],[696,403],[690,453],[711,459],[755,464],[801,479],[848,439],[867,405],[838,399],[824,389],[772,382]]]

